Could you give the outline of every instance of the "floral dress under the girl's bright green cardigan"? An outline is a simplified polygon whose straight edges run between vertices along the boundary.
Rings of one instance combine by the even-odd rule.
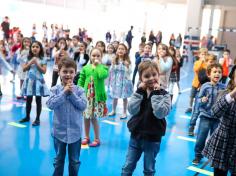
[[[88,84],[87,99],[87,109],[84,112],[84,117],[86,119],[107,116],[108,109],[106,106],[106,102],[97,102],[95,100],[94,80],[92,76],[90,77],[90,82]]]

